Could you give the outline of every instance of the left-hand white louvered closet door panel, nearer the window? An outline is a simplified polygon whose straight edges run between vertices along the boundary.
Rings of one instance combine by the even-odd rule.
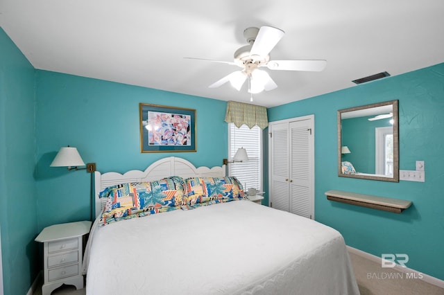
[[[289,211],[289,124],[270,126],[271,207]]]

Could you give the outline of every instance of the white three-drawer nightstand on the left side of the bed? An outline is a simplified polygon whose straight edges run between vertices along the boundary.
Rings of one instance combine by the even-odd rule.
[[[42,295],[50,295],[63,284],[83,289],[83,235],[89,233],[90,221],[70,222],[45,227],[35,238],[43,244]]]

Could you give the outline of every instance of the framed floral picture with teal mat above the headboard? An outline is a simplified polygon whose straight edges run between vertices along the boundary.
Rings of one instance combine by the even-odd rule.
[[[196,109],[139,104],[140,152],[196,152]]]

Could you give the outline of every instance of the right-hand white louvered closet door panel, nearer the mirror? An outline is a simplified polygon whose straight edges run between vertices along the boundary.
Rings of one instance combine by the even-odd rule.
[[[313,218],[314,135],[312,120],[291,122],[290,129],[290,212]]]

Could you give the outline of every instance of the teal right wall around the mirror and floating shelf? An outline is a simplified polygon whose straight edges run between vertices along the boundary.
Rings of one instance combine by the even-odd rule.
[[[336,111],[399,100],[400,169],[425,161],[425,182],[337,176]],[[268,109],[268,120],[315,115],[315,216],[351,247],[381,256],[407,253],[407,267],[444,280],[444,63]],[[401,214],[328,201],[327,190],[407,199]]]

